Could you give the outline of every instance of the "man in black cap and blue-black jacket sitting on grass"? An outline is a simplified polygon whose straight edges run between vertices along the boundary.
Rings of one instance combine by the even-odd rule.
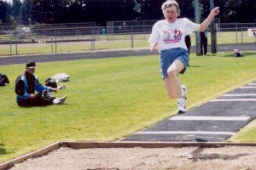
[[[17,94],[17,104],[19,106],[40,106],[40,105],[60,105],[64,103],[67,96],[56,99],[51,92],[57,92],[57,88],[43,86],[38,82],[38,77],[34,75],[36,69],[35,62],[26,64],[26,71],[17,77],[15,81],[15,93]],[[35,91],[38,94],[35,94]]]

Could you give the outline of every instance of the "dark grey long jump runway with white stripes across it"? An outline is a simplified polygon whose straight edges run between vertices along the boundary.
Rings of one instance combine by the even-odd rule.
[[[122,139],[134,142],[222,142],[256,117],[256,82]]]

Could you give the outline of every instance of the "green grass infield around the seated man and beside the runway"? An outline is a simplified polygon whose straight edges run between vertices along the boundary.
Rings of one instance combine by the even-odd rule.
[[[256,52],[244,54],[191,54],[191,67],[180,76],[189,88],[189,109],[255,81]],[[71,77],[64,83],[67,88],[56,94],[67,95],[67,105],[47,107],[16,105],[15,78],[24,66],[0,66],[11,82],[0,88],[0,162],[55,141],[114,141],[177,112],[176,101],[166,96],[158,56],[38,63],[40,82],[61,72]],[[256,142],[255,124],[234,141]]]

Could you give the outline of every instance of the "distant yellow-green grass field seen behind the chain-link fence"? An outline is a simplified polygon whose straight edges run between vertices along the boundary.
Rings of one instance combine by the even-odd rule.
[[[208,33],[208,44],[211,44],[211,34]],[[47,54],[56,52],[73,52],[73,51],[89,51],[91,49],[117,49],[117,48],[131,48],[131,35],[111,35],[111,36],[100,36],[98,40],[94,42],[94,45],[90,41],[83,42],[57,42],[55,48],[55,43],[45,43],[43,40],[38,40],[39,43],[32,44],[18,44],[17,54]],[[134,34],[133,35],[133,48],[148,48],[148,38],[149,34]],[[55,38],[53,38],[55,40]],[[71,41],[78,40],[78,37],[57,37],[58,41],[63,39]],[[90,37],[84,36],[79,37],[79,39],[87,39]],[[48,41],[50,37],[48,37]],[[244,42],[255,42],[253,37],[247,37],[247,31],[225,31],[217,33],[217,43],[244,43]],[[191,43],[195,45],[195,33],[191,34]],[[10,49],[11,47],[11,49]],[[11,52],[10,52],[11,51]],[[0,55],[16,54],[15,44],[12,46],[0,45]]]

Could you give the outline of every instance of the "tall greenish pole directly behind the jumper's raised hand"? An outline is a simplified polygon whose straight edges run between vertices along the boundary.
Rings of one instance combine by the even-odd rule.
[[[214,8],[213,0],[210,0],[210,11]],[[212,54],[217,54],[217,29],[215,24],[215,18],[212,20],[211,24],[211,46],[212,46]]]

